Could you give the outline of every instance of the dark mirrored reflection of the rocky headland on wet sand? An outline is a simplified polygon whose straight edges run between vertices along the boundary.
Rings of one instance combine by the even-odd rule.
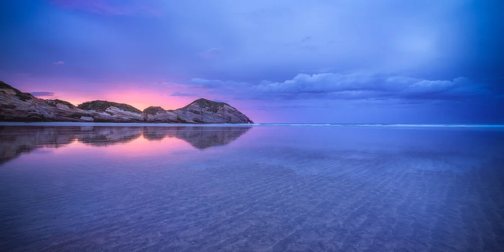
[[[224,146],[250,127],[0,127],[0,164],[38,148],[59,148],[74,141],[91,146],[120,145],[143,136],[148,141],[183,140],[199,150]]]

